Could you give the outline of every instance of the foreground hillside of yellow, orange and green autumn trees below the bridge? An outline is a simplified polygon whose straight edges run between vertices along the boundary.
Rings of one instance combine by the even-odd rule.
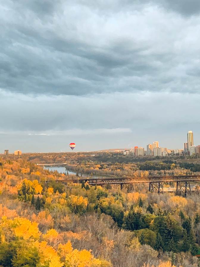
[[[199,195],[55,182],[71,178],[0,159],[0,266],[199,266]]]

